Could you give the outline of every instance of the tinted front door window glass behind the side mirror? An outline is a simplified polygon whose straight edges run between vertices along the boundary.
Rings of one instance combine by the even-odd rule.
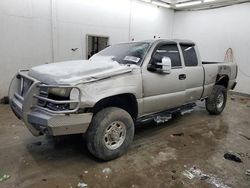
[[[164,44],[159,46],[154,56],[160,61],[163,57],[169,57],[172,62],[172,67],[181,67],[181,58],[177,44]]]

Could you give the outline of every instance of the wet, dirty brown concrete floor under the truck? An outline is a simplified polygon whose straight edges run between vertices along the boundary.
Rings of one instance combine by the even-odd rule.
[[[80,182],[88,187],[249,188],[250,140],[242,135],[250,137],[250,100],[229,96],[220,116],[199,104],[168,123],[139,126],[124,156],[100,162],[81,137],[58,142],[33,137],[8,105],[0,105],[0,175],[11,175],[0,187],[70,188]],[[227,151],[239,153],[243,163],[224,159]],[[192,167],[197,176],[189,179],[183,172]]]

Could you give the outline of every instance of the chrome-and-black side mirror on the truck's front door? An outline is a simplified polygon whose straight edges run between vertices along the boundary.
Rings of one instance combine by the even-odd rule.
[[[172,66],[171,59],[169,57],[163,57],[161,59],[161,62],[154,59],[153,63],[149,64],[148,70],[161,74],[170,74],[171,66]]]

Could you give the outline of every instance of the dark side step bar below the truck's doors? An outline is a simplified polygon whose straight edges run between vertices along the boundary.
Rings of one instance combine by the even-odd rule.
[[[149,121],[155,121],[157,124],[159,123],[165,123],[172,119],[173,114],[181,114],[185,115],[187,113],[191,113],[194,110],[194,107],[196,106],[195,103],[185,104],[183,106],[180,106],[178,108],[172,108],[166,111],[158,112],[155,114],[146,115],[143,117],[140,117],[137,119],[136,123],[141,124]]]

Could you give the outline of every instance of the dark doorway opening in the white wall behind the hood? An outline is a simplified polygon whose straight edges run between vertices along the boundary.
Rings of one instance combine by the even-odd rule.
[[[97,36],[97,35],[87,35],[87,54],[86,58],[89,59],[94,54],[103,50],[108,46],[109,37]]]

